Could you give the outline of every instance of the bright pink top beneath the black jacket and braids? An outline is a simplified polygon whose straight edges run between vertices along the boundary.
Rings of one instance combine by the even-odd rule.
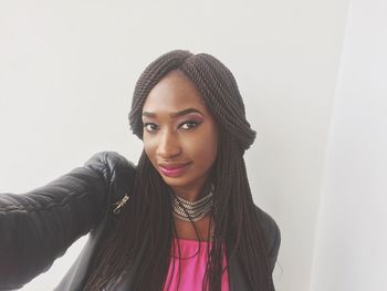
[[[174,239],[175,254],[174,248],[170,251],[172,257],[170,259],[167,281],[164,291],[201,291],[208,258],[207,248],[210,243],[207,241],[179,239],[181,258],[181,261],[179,261],[179,249],[177,240],[178,239]],[[224,254],[223,267],[226,267]],[[222,276],[221,290],[229,291],[229,273],[227,271],[224,271]]]

